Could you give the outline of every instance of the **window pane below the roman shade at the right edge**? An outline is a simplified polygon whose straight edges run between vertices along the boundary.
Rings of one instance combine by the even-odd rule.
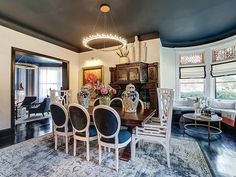
[[[216,77],[216,99],[236,100],[236,75]]]

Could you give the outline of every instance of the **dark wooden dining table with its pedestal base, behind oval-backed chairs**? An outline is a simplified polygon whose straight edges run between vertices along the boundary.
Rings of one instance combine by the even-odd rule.
[[[132,129],[136,126],[141,126],[145,120],[153,117],[156,114],[156,109],[137,110],[137,112],[125,112],[122,107],[112,107],[119,114],[121,125],[127,127],[127,130],[132,133]],[[94,106],[89,106],[88,112],[90,117],[93,117]],[[131,158],[130,145],[128,145],[121,153],[120,160],[129,161]]]

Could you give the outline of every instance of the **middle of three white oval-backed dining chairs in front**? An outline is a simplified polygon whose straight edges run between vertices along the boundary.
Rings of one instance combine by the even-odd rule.
[[[86,159],[89,161],[89,142],[97,140],[95,126],[90,125],[88,111],[78,103],[69,105],[69,115],[73,127],[74,156],[76,156],[77,140],[86,142]]]

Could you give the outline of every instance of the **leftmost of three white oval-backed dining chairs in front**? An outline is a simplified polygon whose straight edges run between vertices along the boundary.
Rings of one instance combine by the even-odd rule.
[[[68,139],[73,135],[72,126],[68,118],[68,112],[60,103],[52,103],[50,105],[50,110],[53,120],[55,150],[57,150],[57,136],[63,136],[66,138],[66,153],[68,154]]]

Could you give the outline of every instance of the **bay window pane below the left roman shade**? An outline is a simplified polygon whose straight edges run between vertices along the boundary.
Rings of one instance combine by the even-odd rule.
[[[202,97],[205,79],[180,79],[180,97]]]

